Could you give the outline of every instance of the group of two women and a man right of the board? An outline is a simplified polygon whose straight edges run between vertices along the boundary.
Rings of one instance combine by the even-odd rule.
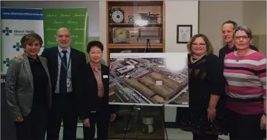
[[[228,20],[219,56],[204,34],[188,42],[189,107],[177,108],[176,123],[193,139],[266,138],[266,56],[252,45],[252,31]]]

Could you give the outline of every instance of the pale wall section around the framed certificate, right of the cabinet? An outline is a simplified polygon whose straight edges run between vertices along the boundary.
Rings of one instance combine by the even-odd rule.
[[[192,35],[198,33],[198,1],[165,1],[165,52],[187,52],[186,44],[176,43],[178,24],[192,24]],[[165,122],[175,122],[176,107],[165,107]]]

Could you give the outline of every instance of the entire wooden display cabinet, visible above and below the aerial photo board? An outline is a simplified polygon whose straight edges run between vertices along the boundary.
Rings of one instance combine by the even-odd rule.
[[[140,52],[165,52],[165,2],[107,1],[107,65],[110,53]],[[109,139],[165,139],[164,107],[131,107],[121,105]]]

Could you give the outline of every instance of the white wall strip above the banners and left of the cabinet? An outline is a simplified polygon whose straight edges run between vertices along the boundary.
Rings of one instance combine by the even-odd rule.
[[[1,7],[11,8],[87,8],[89,37],[100,36],[98,1],[1,1]]]

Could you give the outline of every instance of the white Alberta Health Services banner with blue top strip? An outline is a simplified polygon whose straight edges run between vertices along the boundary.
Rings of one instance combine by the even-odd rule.
[[[10,59],[23,52],[21,38],[32,32],[44,38],[42,9],[1,8],[1,74],[6,74]]]

